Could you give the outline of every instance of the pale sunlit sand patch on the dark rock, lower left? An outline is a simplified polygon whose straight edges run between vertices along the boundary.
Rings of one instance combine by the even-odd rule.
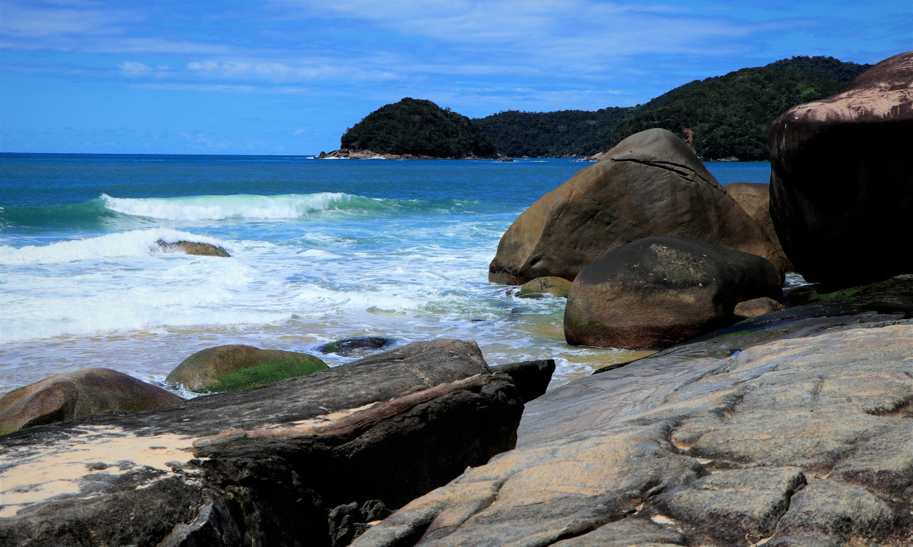
[[[11,450],[5,459],[13,463],[0,471],[0,516],[12,516],[29,503],[77,494],[79,480],[93,473],[117,475],[145,468],[173,473],[169,462],[194,458],[193,440],[174,434],[138,437],[122,428],[90,426],[50,446]],[[97,463],[107,467],[89,465]]]

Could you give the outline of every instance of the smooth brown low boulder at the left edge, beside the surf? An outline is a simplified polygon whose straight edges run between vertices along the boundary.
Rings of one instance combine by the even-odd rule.
[[[80,368],[0,398],[0,435],[105,410],[148,410],[183,400],[110,368]]]

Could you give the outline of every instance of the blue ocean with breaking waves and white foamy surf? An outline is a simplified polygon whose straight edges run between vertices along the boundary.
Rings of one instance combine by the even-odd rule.
[[[352,359],[317,348],[353,336],[475,340],[489,365],[554,358],[552,386],[628,360],[565,344],[563,299],[488,283],[510,223],[587,165],[0,154],[0,394],[96,366],[161,386],[224,344],[335,366]],[[766,162],[707,166],[723,184],[770,178]]]

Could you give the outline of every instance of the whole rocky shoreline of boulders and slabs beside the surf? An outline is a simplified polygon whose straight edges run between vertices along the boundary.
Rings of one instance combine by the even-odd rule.
[[[913,544],[909,81],[913,52],[785,113],[770,187],[650,129],[520,215],[490,281],[566,297],[570,344],[658,350],[593,376],[365,338],[332,368],[204,350],[170,378],[220,393],[189,401],[113,371],[14,390],[0,544]]]

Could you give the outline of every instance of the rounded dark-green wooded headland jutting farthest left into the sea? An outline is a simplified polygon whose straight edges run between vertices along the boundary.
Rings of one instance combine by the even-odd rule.
[[[436,158],[491,157],[495,147],[466,116],[430,100],[404,98],[385,105],[347,129],[341,146],[385,154]]]

